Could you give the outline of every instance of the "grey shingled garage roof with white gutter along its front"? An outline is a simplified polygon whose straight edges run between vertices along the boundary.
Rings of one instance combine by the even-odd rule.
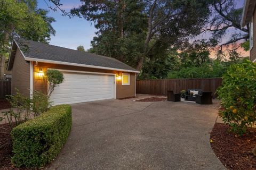
[[[13,41],[23,53],[25,60],[65,65],[77,65],[98,69],[139,72],[115,58],[81,52],[74,49],[19,39]],[[9,67],[10,68],[10,67]]]

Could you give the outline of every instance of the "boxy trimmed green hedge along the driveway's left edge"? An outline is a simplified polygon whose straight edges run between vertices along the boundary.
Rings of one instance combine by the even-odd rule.
[[[15,127],[11,132],[12,163],[17,167],[50,163],[66,143],[71,125],[71,106],[58,105]]]

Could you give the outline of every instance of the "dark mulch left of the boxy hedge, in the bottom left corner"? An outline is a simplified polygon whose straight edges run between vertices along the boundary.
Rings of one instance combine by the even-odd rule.
[[[5,128],[6,130],[2,129]],[[8,143],[7,145],[0,148],[0,169],[1,170],[18,170],[18,169],[27,169],[27,168],[16,168],[11,164],[11,156],[12,156],[12,145],[11,145],[11,129],[9,124],[1,124],[0,125],[0,146],[4,143]]]

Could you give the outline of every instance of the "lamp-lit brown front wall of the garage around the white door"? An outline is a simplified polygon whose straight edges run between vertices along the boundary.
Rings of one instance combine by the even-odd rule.
[[[61,70],[76,70],[76,71],[88,71],[88,72],[100,72],[100,73],[114,73],[122,74],[119,71],[113,70],[103,70],[103,69],[92,69],[88,67],[78,67],[70,65],[60,65],[60,64],[49,64],[49,63],[38,63],[34,66],[34,90],[47,92],[46,82],[37,76],[39,68],[42,67],[44,72],[50,69],[61,69]],[[125,72],[124,72],[125,73]],[[122,85],[121,80],[116,80],[116,98],[132,97],[135,95],[135,73],[130,73],[130,85]]]

